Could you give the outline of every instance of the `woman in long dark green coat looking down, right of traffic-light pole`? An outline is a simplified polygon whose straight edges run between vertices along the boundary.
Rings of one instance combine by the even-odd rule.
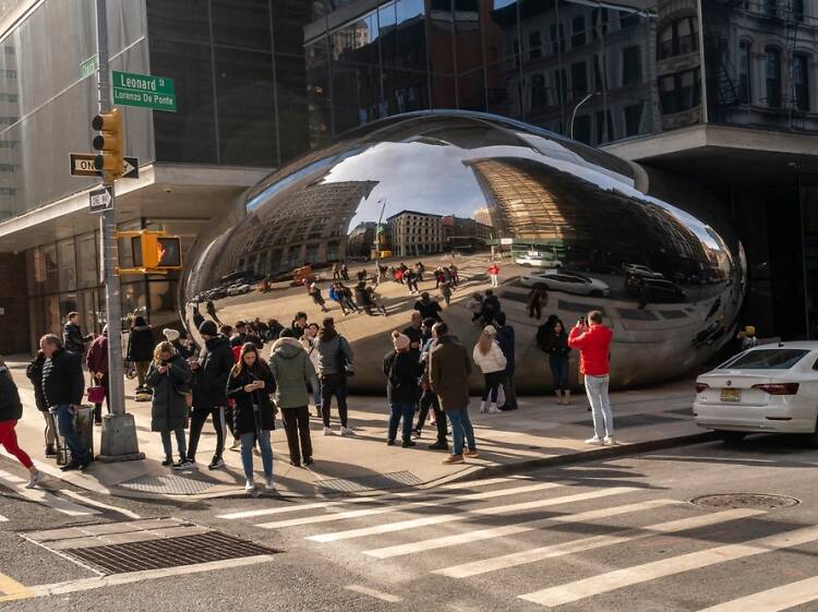
[[[173,469],[184,469],[192,465],[188,459],[188,447],[184,430],[188,429],[188,394],[192,393],[190,384],[193,374],[188,362],[176,352],[173,345],[164,341],[156,345],[154,359],[145,382],[154,391],[151,405],[151,431],[159,432],[165,449],[161,465]],[[176,435],[179,460],[173,463],[173,447],[170,434]]]

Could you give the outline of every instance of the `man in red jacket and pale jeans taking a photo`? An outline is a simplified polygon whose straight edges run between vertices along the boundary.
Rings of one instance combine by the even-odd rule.
[[[602,325],[602,313],[598,310],[581,317],[568,334],[568,346],[579,349],[579,371],[585,374],[585,389],[591,403],[593,437],[588,444],[601,446],[615,444],[613,439],[613,415],[608,398],[609,358],[613,332]]]

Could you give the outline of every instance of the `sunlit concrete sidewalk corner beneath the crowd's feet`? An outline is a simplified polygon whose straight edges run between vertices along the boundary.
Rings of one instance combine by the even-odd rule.
[[[216,435],[209,422],[205,424],[200,443],[199,470],[175,472],[160,465],[164,453],[159,434],[151,432],[151,405],[133,401],[135,385],[132,381],[127,382],[127,409],[135,417],[140,451],[145,453],[146,459],[119,464],[95,461],[84,473],[60,471],[52,459],[45,458],[44,423],[25,377],[26,362],[10,358],[7,363],[25,407],[23,419],[17,424],[21,446],[48,476],[111,495],[196,500],[244,494],[244,475],[238,452],[225,452],[225,469],[207,469],[216,446]],[[613,393],[614,423],[619,442],[616,447],[589,447],[584,443],[592,435],[592,427],[588,403],[582,395],[575,394],[570,406],[558,406],[550,396],[524,397],[519,399],[519,410],[502,415],[480,415],[477,409],[479,400],[472,398],[470,415],[480,458],[455,466],[441,464],[445,453],[426,448],[435,440],[435,428],[429,423],[416,447],[386,446],[388,415],[385,399],[351,397],[350,425],[357,435],[324,436],[322,423],[313,418],[315,463],[309,468],[290,466],[284,428],[277,419],[278,429],[273,433],[277,492],[286,496],[316,496],[420,487],[705,440],[709,434],[696,428],[690,418],[693,385],[693,380],[681,380],[649,389]],[[334,430],[337,433],[337,423]],[[99,428],[95,428],[94,433],[95,452],[98,452]],[[260,471],[261,457],[256,455],[254,461]]]

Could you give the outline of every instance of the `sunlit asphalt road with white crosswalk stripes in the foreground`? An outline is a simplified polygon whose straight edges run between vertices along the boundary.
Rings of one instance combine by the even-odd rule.
[[[53,482],[53,497],[23,500],[19,483],[9,481],[23,471],[2,458],[0,515],[8,520],[0,521],[0,591],[20,599],[0,605],[95,612],[817,611],[817,468],[818,454],[797,440],[762,436],[741,446],[708,443],[370,501],[179,505],[84,492],[77,499],[71,495],[76,490]],[[801,503],[778,509],[746,499],[734,508],[689,503],[721,493],[786,495]],[[49,550],[91,540],[52,530],[128,530],[122,523],[136,516],[189,521],[179,529],[210,528],[279,552],[249,564],[171,569],[164,577],[99,577],[73,553]],[[37,535],[46,530],[50,535]],[[34,543],[37,538],[50,541]]]

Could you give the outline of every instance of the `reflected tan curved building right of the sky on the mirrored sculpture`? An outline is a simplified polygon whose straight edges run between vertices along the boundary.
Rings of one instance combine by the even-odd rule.
[[[588,181],[531,159],[464,164],[490,204],[495,238],[556,248],[566,265],[641,263],[659,272],[690,273],[708,262],[693,230],[655,204],[596,185],[589,189]],[[640,237],[638,242],[634,235]]]

